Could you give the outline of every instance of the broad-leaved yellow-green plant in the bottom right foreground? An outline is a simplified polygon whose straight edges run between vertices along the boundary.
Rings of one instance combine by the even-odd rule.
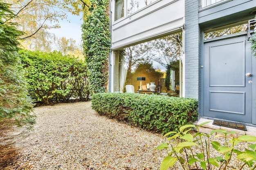
[[[204,122],[200,126],[207,123],[209,122]],[[167,151],[160,170],[173,167],[177,162],[183,170],[226,170],[231,159],[240,159],[243,162],[239,170],[246,166],[250,170],[256,168],[256,144],[249,145],[245,150],[238,150],[235,147],[243,141],[256,141],[256,137],[242,135],[235,138],[232,137],[234,131],[227,132],[227,130],[220,129],[213,130],[209,135],[198,132],[200,126],[189,124],[164,135],[172,136],[167,138],[168,143],[160,144],[155,148],[155,150]],[[213,141],[216,138],[223,139],[223,142]],[[177,143],[177,140],[180,140],[180,143]],[[214,150],[218,156],[213,154]]]

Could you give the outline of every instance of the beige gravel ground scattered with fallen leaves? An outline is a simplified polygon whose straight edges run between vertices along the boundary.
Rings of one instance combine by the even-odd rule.
[[[91,102],[40,106],[34,113],[34,130],[10,132],[20,153],[4,170],[159,170],[164,158],[153,149],[166,138],[99,116]]]

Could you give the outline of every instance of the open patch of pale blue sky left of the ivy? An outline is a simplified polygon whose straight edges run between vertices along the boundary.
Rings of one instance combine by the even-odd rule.
[[[69,20],[69,21],[67,21]],[[76,16],[67,14],[67,20],[59,20],[61,28],[50,29],[50,33],[54,33],[58,38],[65,37],[67,39],[76,40],[76,44],[81,44],[81,24],[83,24],[82,15]]]

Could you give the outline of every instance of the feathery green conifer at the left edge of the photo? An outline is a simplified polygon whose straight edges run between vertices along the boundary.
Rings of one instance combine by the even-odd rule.
[[[15,15],[8,4],[0,1],[0,119],[15,117],[17,123],[34,123],[30,115],[31,99],[18,57],[18,41],[21,31],[9,22]]]

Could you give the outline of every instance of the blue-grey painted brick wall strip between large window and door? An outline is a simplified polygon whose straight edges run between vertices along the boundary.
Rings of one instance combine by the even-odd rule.
[[[200,98],[199,0],[185,0],[185,97]]]

